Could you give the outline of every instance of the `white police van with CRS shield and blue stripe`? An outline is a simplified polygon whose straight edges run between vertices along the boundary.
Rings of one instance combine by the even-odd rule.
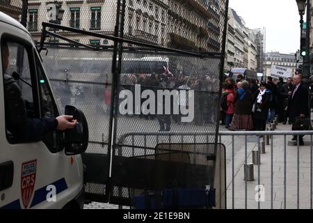
[[[88,125],[82,112],[65,108],[78,123],[73,130],[54,131],[42,141],[16,139],[7,126],[3,73],[18,73],[22,96],[32,118],[60,115],[49,80],[31,35],[0,12],[0,41],[10,47],[8,69],[0,50],[0,208],[82,208],[83,162]],[[13,76],[14,77],[14,76]]]

